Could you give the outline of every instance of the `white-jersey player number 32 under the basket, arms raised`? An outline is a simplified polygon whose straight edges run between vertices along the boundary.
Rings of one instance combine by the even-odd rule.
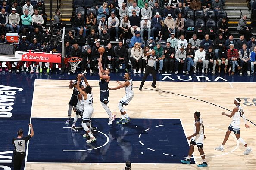
[[[78,80],[80,80],[80,79],[81,79],[81,75],[78,75]],[[94,140],[96,140],[96,137],[94,137],[93,134],[91,133],[91,131],[89,130],[89,128],[90,128],[89,121],[90,121],[91,115],[94,112],[94,108],[93,108],[93,100],[94,99],[93,99],[93,94],[92,94],[92,88],[91,88],[91,86],[87,85],[85,88],[85,91],[84,91],[79,87],[79,81],[78,81],[77,89],[83,96],[82,103],[84,104],[84,112],[83,112],[83,117],[82,117],[82,120],[83,120],[82,127],[86,131],[86,133],[87,133],[86,135],[88,135],[90,137],[90,139],[87,140],[86,142],[91,143]],[[85,137],[87,137],[86,135],[85,135]]]

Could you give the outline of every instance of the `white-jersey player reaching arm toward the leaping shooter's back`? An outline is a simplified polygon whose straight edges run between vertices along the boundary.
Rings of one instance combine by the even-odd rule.
[[[116,121],[117,124],[126,124],[131,121],[131,118],[128,116],[128,114],[125,111],[125,108],[123,107],[124,105],[128,105],[131,99],[134,96],[134,92],[132,90],[132,79],[131,79],[131,74],[130,73],[125,73],[124,75],[125,82],[121,83],[117,81],[119,86],[115,88],[109,88],[109,90],[117,90],[119,88],[125,87],[125,96],[122,98],[122,100],[118,104],[118,108],[121,112],[121,119],[119,121]]]

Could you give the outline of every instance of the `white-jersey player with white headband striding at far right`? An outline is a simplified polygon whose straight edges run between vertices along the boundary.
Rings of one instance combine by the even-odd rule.
[[[244,139],[240,137],[240,117],[243,117],[245,127],[247,129],[250,128],[249,125],[247,124],[247,120],[245,118],[243,108],[240,106],[240,102],[241,102],[240,98],[235,98],[234,104],[236,106],[230,115],[226,114],[225,112],[222,112],[222,115],[228,116],[230,118],[233,117],[233,120],[231,124],[229,124],[228,131],[226,132],[222,145],[215,148],[215,150],[224,151],[224,145],[227,142],[230,133],[233,131],[234,134],[236,135],[237,140],[246,147],[246,150],[244,151],[244,155],[248,155],[250,152],[252,152],[252,149],[245,143]]]

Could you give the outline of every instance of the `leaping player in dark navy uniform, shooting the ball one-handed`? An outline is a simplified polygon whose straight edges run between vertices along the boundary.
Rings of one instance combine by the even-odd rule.
[[[104,48],[103,48],[104,49]],[[109,89],[108,89],[108,84],[110,81],[110,68],[106,68],[105,70],[102,68],[102,55],[103,52],[100,51],[99,48],[99,52],[100,52],[100,58],[99,58],[99,76],[100,76],[100,82],[99,82],[99,86],[100,86],[100,102],[101,105],[103,106],[103,108],[106,110],[107,114],[109,115],[109,123],[108,125],[112,124],[113,121],[115,120],[116,115],[113,115],[112,112],[110,111],[109,107],[108,107],[108,103],[109,103]]]

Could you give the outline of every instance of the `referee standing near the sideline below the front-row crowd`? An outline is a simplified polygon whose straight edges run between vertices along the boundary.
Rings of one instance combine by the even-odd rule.
[[[153,82],[151,84],[151,86],[153,88],[156,88],[156,70],[155,70],[155,65],[156,65],[156,61],[158,60],[162,60],[163,58],[165,57],[162,57],[162,58],[158,58],[156,59],[156,56],[155,56],[155,50],[152,50],[151,54],[147,53],[146,56],[148,55],[148,59],[147,59],[147,67],[146,67],[146,70],[145,70],[145,74],[144,74],[144,77],[141,81],[141,84],[140,84],[140,88],[139,90],[142,90],[142,87],[144,85],[144,82],[145,80],[147,79],[147,76],[151,73],[152,76],[153,76]]]

